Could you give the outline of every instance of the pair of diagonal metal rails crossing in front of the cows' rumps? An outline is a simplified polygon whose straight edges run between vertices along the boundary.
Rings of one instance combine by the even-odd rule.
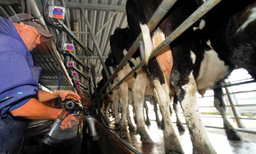
[[[147,23],[150,31],[158,25],[158,23],[162,20],[162,18],[166,15],[169,9],[175,4],[177,0],[163,0],[159,5],[158,9],[154,12],[151,19]],[[222,0],[207,0],[203,5],[201,5],[195,12],[192,13],[173,33],[166,37],[154,51],[151,52],[150,59],[152,59],[155,55],[157,55],[163,48],[169,45],[173,40],[175,40],[178,36],[180,36],[186,29],[192,26],[197,20],[199,20],[203,15],[205,15],[208,11],[210,11],[215,5],[217,5]],[[129,49],[128,53],[124,56],[117,69],[114,71],[112,76],[108,79],[108,81],[104,84],[103,88],[99,93],[103,92],[103,89],[109,85],[110,81],[113,81],[115,77],[117,77],[117,73],[122,70],[122,68],[128,63],[128,60],[132,58],[132,55],[136,52],[136,50],[140,46],[140,42],[142,40],[142,33],[139,34],[136,41],[132,44],[132,47]],[[142,51],[143,52],[143,51]],[[135,67],[131,72],[129,72],[119,83],[117,83],[109,92],[112,92],[117,86],[122,84],[127,77],[129,77],[132,73],[135,73],[139,70],[144,64],[144,53],[141,52],[142,61]],[[105,95],[107,95],[107,92]],[[102,99],[105,95],[102,95],[100,99]]]

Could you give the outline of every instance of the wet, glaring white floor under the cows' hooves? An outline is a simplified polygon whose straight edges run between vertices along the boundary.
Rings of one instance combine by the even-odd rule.
[[[151,121],[151,126],[146,126],[146,128],[154,144],[143,144],[140,141],[140,136],[134,132],[129,133],[129,139],[126,141],[143,154],[165,154],[163,131],[158,128],[155,121]],[[180,139],[184,154],[192,154],[192,143],[188,129],[185,132],[178,132],[176,127],[175,131]],[[207,128],[207,132],[218,154],[256,154],[256,134],[239,132],[245,140],[230,141],[226,139],[223,129]],[[116,133],[119,134],[119,131]]]

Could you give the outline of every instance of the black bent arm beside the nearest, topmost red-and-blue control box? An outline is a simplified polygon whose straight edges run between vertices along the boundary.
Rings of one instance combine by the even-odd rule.
[[[93,52],[90,50],[90,48],[87,48],[60,19],[48,17],[49,6],[53,6],[53,4],[54,0],[44,0],[43,17],[46,24],[53,29],[58,29],[66,33],[68,37],[70,37],[85,52],[86,56],[93,55]]]

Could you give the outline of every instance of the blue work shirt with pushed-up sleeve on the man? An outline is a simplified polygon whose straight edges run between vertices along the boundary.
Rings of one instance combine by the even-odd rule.
[[[27,61],[28,59],[28,61]],[[28,64],[29,63],[29,64]],[[0,115],[36,97],[38,84],[30,71],[33,59],[15,26],[0,17]]]

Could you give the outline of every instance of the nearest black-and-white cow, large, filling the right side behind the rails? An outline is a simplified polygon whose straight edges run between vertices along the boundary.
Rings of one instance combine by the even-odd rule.
[[[172,33],[192,11],[195,11],[206,0],[178,0],[166,15],[160,25],[162,40]],[[128,0],[128,25],[137,36],[140,31],[144,33],[145,23],[152,12],[161,3],[161,0]],[[229,8],[229,9],[226,9]],[[139,18],[136,20],[136,18]],[[196,92],[204,94],[207,89],[215,92],[215,107],[222,114],[224,128],[229,139],[241,138],[227,121],[226,107],[222,99],[222,81],[234,68],[245,68],[255,78],[256,76],[256,3],[247,0],[243,3],[233,0],[222,0],[215,8],[207,13],[200,21],[170,44],[173,67],[170,81],[175,88],[181,107],[184,111],[188,129],[191,135],[194,154],[215,154],[207,138],[206,130],[200,119],[200,112],[196,103]],[[141,30],[142,29],[142,30]],[[157,32],[158,31],[158,32]],[[153,36],[153,46],[155,38]],[[151,47],[148,34],[143,34],[145,46]],[[160,41],[161,42],[161,41]],[[149,43],[149,45],[147,44]],[[146,50],[146,49],[145,49]],[[152,49],[151,49],[152,51]],[[150,52],[150,51],[145,51]],[[154,91],[159,95],[158,102],[161,110],[166,99],[166,80],[162,72],[157,72],[156,59],[148,62],[151,72]],[[151,64],[152,63],[152,64]],[[159,66],[161,67],[161,66]],[[154,69],[152,69],[154,68]],[[168,80],[167,80],[168,82]],[[163,90],[164,89],[164,90]],[[166,91],[166,95],[161,95]],[[162,93],[161,93],[162,92]],[[163,115],[164,116],[164,115]],[[168,124],[170,121],[166,120]],[[172,126],[172,125],[170,125]],[[169,134],[171,135],[169,135]],[[168,136],[169,135],[169,136]],[[174,139],[171,141],[170,136]],[[166,144],[170,151],[182,153],[177,136],[173,130],[165,132]],[[177,142],[176,142],[177,141]]]

